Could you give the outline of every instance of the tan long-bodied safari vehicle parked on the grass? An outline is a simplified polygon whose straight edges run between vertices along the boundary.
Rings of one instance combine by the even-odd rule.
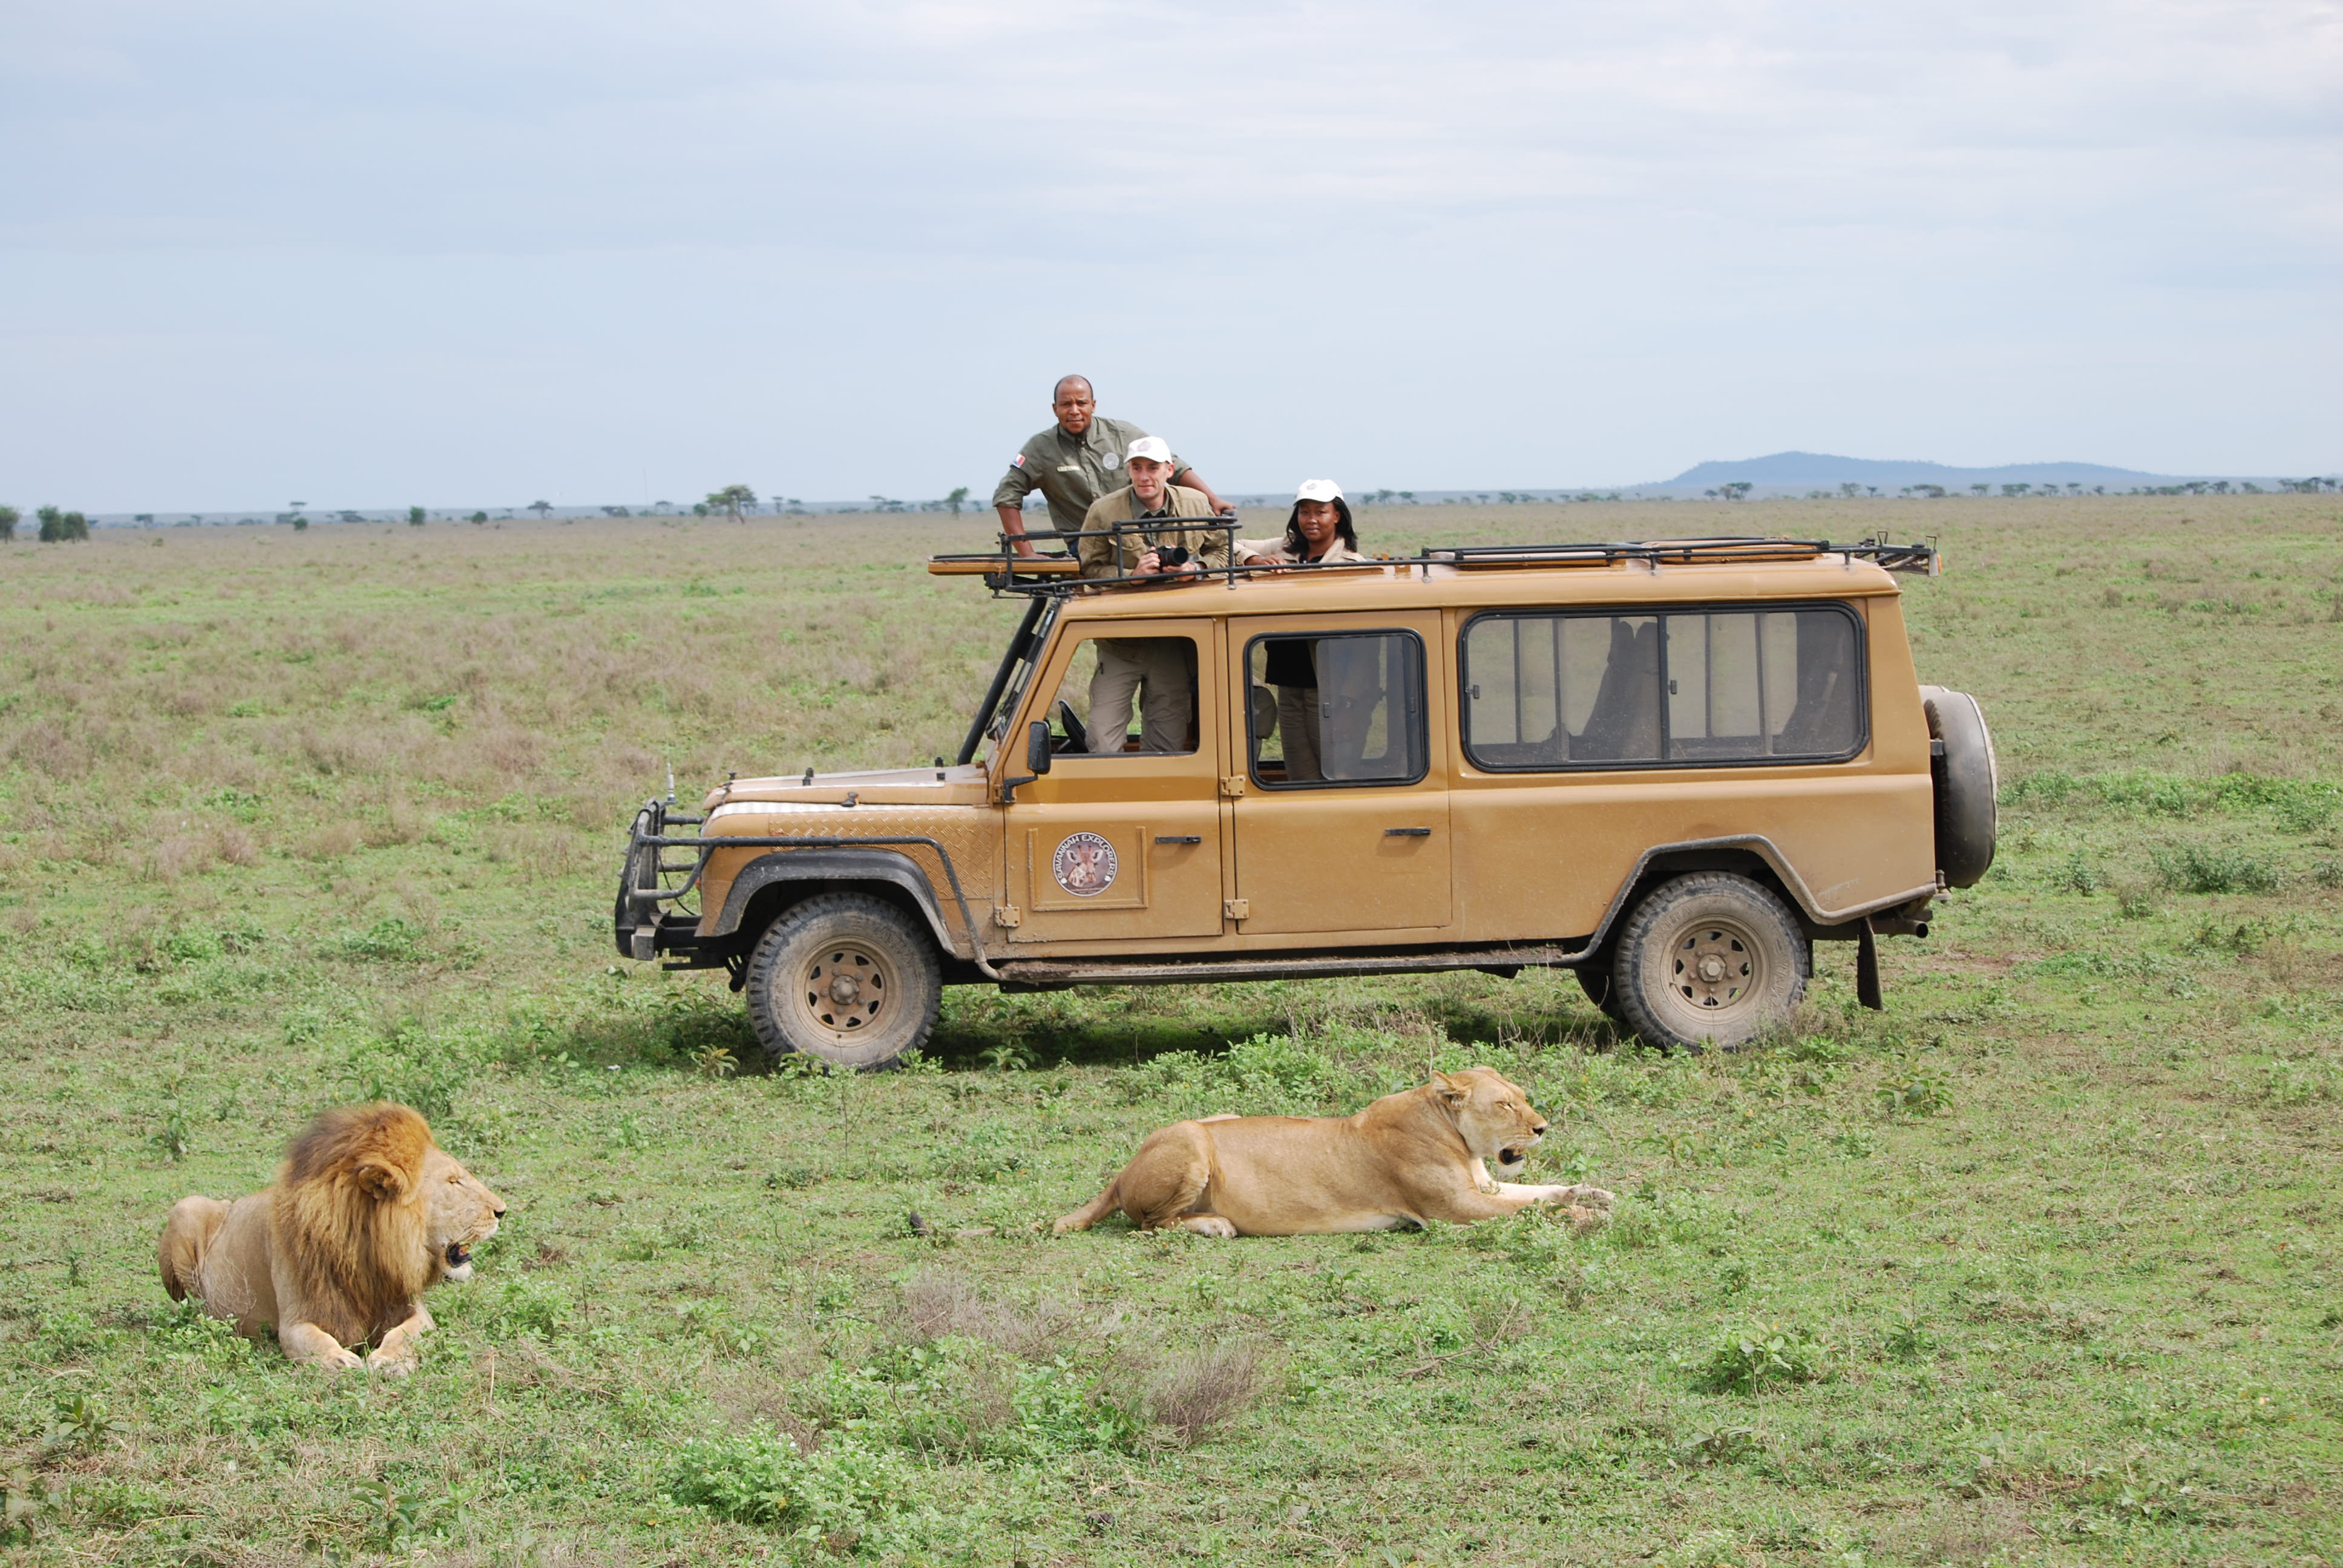
[[[1893,572],[1935,567],[1795,539],[1104,581],[940,555],[1026,600],[958,757],[736,776],[698,813],[670,788],[635,816],[619,952],[722,966],[769,1052],[851,1066],[979,982],[1551,966],[1699,1048],[1853,942],[1879,1005],[1877,938],[1924,938],[1994,855],[1985,720],[1905,638]],[[1099,642],[1136,638],[1190,670],[1157,750],[1087,710]]]

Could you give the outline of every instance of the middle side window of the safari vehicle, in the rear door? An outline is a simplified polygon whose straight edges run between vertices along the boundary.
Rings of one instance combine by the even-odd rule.
[[[1415,633],[1254,638],[1246,752],[1268,790],[1425,776],[1425,645]]]

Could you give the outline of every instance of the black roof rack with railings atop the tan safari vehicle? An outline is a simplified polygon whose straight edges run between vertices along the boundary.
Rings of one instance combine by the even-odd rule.
[[[1019,546],[1026,544],[1057,544],[1078,539],[1120,539],[1122,534],[1160,530],[1167,523],[1176,527],[1204,527],[1216,532],[1237,532],[1237,520],[1223,518],[1146,518],[1139,523],[1115,523],[1094,530],[1031,530],[1024,534],[1000,534],[998,551],[965,553],[965,555],[930,555],[928,572],[937,577],[982,577],[993,593],[1073,593],[1078,588],[1169,588],[1186,579],[1164,577],[1082,577],[1082,563],[1073,553],[1064,555],[1024,555]],[[1422,544],[1413,555],[1375,555],[1371,560],[1343,563],[1357,567],[1450,567],[1460,572],[1492,572],[1492,570],[1551,570],[1551,567],[1610,567],[1626,560],[1642,560],[1649,565],[1748,565],[1748,563],[1774,563],[1774,560],[1821,560],[1823,555],[1844,555],[1849,560],[1870,560],[1886,572],[1919,572],[1924,577],[1942,574],[1942,553],[1938,551],[1935,537],[1914,539],[1910,544],[1895,544],[1886,534],[1872,534],[1870,539],[1858,539],[1853,544],[1835,544],[1830,539],[1767,539],[1757,534],[1722,534],[1710,539],[1612,539],[1603,544]],[[1242,577],[1268,574],[1291,567],[1239,567],[1235,563],[1225,567],[1207,570],[1204,579],[1221,579],[1235,584]],[[1343,570],[1317,567],[1317,570]]]

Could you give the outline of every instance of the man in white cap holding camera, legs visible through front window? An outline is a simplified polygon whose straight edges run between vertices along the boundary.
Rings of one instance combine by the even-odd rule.
[[[1228,565],[1228,534],[1216,527],[1104,530],[1153,518],[1216,516],[1211,497],[1172,483],[1172,445],[1141,436],[1122,455],[1132,483],[1108,490],[1082,513],[1082,577],[1164,577]],[[1139,748],[1188,750],[1195,720],[1195,645],[1186,638],[1099,638],[1099,673],[1089,677],[1089,750],[1120,752],[1139,696]]]

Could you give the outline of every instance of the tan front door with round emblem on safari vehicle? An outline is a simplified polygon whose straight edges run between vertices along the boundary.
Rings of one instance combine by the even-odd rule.
[[[1209,616],[1066,626],[1003,743],[1022,776],[1050,724],[1050,771],[1003,811],[1012,942],[1221,935],[1221,684]]]

